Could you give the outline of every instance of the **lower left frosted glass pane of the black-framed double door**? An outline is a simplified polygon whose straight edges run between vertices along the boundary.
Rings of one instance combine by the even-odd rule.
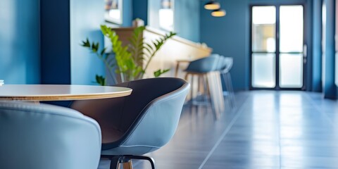
[[[252,87],[275,87],[275,54],[252,54]]]

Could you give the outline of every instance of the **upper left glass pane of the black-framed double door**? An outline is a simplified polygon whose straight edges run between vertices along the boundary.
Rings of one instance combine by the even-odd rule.
[[[253,6],[252,8],[252,51],[274,52],[275,49],[275,6]]]

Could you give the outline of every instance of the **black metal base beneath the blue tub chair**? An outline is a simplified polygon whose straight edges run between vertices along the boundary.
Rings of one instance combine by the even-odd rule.
[[[120,169],[120,163],[123,164],[123,169],[132,169],[132,159],[136,160],[146,160],[151,164],[151,168],[155,169],[154,159],[148,156],[133,156],[133,155],[121,155],[121,156],[113,156],[113,155],[101,155],[101,158],[109,158],[111,160],[110,169]]]

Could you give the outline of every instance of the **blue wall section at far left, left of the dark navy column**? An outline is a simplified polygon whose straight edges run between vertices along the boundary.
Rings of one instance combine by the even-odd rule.
[[[1,0],[0,25],[0,79],[38,84],[39,0]]]

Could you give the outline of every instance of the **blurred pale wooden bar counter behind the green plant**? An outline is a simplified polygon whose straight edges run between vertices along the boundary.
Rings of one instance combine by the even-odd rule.
[[[124,45],[129,43],[129,37],[131,37],[134,27],[120,27],[113,28],[113,30],[118,34],[119,39],[123,42]],[[146,30],[143,32],[144,41],[151,44],[151,41],[158,39],[165,35],[165,32],[161,30],[154,30],[151,27],[146,27]],[[211,54],[212,49],[206,46],[202,46],[196,42],[189,41],[182,37],[175,36],[171,39],[168,39],[162,48],[156,53],[149,67],[146,70],[144,77],[153,77],[154,71],[161,69],[170,69],[168,73],[163,74],[163,77],[174,77],[175,76],[175,67],[176,61],[182,59],[194,60],[197,58],[203,58]],[[182,64],[184,69],[187,65]],[[179,77],[184,77],[179,71]]]

